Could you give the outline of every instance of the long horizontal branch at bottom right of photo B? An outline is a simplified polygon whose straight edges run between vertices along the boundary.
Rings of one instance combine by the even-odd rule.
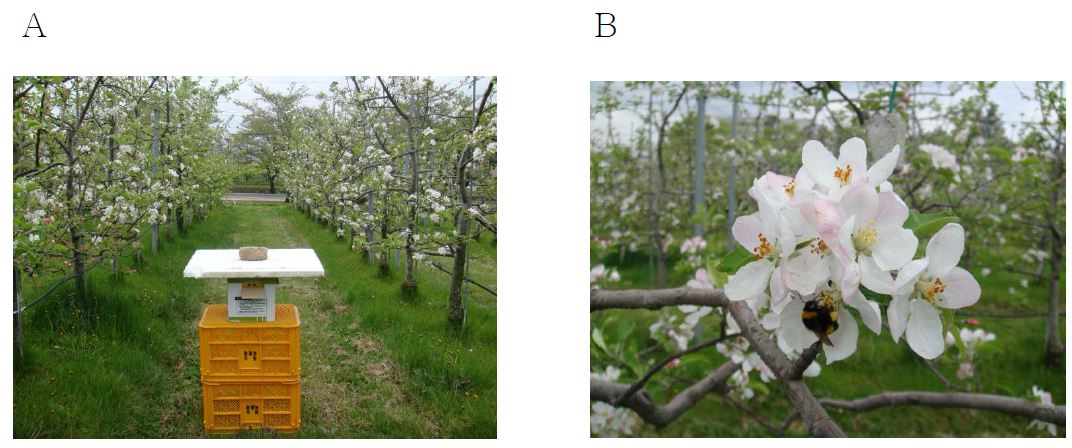
[[[882,392],[852,401],[822,399],[824,406],[863,413],[880,407],[926,406],[994,410],[1064,425],[1064,406],[1052,406],[1012,397],[965,392]]]

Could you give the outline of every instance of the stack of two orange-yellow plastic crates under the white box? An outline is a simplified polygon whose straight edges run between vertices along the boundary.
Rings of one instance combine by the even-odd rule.
[[[233,323],[210,304],[198,326],[205,430],[301,428],[301,322],[277,304],[274,322]]]

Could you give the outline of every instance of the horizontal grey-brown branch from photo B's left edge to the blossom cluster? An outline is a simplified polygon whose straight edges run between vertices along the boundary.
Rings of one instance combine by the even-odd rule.
[[[666,307],[693,304],[700,307],[727,307],[729,299],[721,289],[592,289],[591,311],[644,308],[658,310]]]

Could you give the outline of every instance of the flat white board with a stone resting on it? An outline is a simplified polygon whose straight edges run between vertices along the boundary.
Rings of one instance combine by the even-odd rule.
[[[194,279],[277,279],[324,277],[324,265],[312,249],[269,249],[268,259],[243,260],[237,249],[200,249],[190,257],[182,277]]]

